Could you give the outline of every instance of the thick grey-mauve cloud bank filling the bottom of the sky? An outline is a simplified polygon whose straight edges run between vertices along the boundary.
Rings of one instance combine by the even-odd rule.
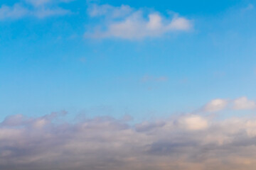
[[[220,121],[188,114],[128,125],[114,118],[60,123],[59,116],[6,118],[0,127],[0,169],[256,167],[256,118]]]

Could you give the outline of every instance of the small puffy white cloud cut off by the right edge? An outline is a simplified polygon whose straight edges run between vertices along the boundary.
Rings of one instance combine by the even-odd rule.
[[[256,108],[256,102],[248,100],[247,97],[241,97],[233,101],[233,109],[235,110],[250,110]]]

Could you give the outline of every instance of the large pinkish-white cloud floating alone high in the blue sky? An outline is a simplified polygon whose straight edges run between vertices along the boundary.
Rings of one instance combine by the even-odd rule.
[[[103,17],[92,32],[85,33],[87,38],[122,38],[142,39],[159,37],[166,33],[188,31],[193,24],[187,18],[175,14],[165,17],[158,12],[148,12],[145,9],[135,10],[130,6],[92,5],[88,13],[91,17]]]

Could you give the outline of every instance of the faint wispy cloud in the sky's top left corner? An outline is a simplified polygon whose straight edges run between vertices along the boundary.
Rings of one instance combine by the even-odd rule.
[[[0,7],[0,20],[19,19],[28,16],[45,18],[48,16],[63,16],[70,13],[69,10],[58,6],[50,6],[52,0],[26,0],[20,1],[13,6],[2,5]],[[64,1],[58,1],[64,2]],[[68,2],[68,1],[65,1]],[[57,1],[55,1],[57,3]],[[33,7],[30,7],[32,5]]]

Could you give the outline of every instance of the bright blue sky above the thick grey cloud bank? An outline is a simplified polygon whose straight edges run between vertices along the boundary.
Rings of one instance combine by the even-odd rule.
[[[145,120],[255,99],[255,1],[0,5],[2,119],[64,110]],[[161,26],[147,30],[150,15]]]

